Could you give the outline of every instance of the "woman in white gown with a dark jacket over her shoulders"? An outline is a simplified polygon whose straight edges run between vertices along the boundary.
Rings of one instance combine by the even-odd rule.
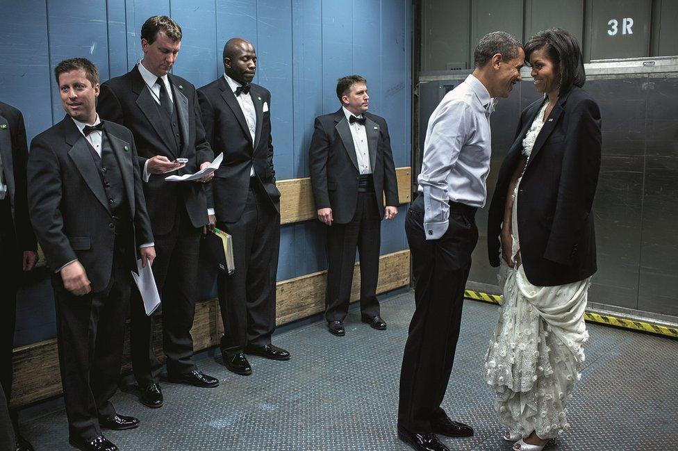
[[[501,262],[504,298],[486,381],[509,429],[504,439],[539,451],[569,427],[566,406],[584,362],[600,111],[581,89],[584,66],[570,33],[537,33],[525,55],[545,95],[523,111],[490,205],[490,263]]]

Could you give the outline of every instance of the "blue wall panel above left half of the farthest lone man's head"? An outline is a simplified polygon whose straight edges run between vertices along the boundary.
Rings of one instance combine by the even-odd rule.
[[[353,6],[342,0],[322,2],[322,111],[340,108],[337,79],[353,73]]]

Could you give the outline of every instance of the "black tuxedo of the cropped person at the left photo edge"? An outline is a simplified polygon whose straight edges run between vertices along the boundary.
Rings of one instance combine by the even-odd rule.
[[[0,102],[0,179],[7,187],[0,200],[0,384],[10,400],[17,288],[24,251],[35,251],[35,235],[26,200],[26,128],[22,113]]]

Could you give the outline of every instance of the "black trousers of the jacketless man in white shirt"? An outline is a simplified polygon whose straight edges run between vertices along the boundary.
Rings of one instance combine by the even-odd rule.
[[[450,203],[449,226],[438,240],[424,235],[424,198],[417,197],[405,220],[415,277],[415,313],[402,371],[398,426],[431,433],[441,416],[461,325],[471,253],[478,241],[475,208]]]

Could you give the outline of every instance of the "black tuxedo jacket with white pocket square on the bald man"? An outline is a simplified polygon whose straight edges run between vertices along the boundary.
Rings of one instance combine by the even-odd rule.
[[[254,142],[238,99],[223,76],[198,89],[207,140],[215,154],[224,154],[224,161],[211,181],[217,220],[223,222],[239,220],[245,210],[251,165],[271,204],[280,212],[280,192],[273,169],[271,113],[263,110],[264,104],[271,106],[271,93],[252,83],[249,95],[256,111]]]

